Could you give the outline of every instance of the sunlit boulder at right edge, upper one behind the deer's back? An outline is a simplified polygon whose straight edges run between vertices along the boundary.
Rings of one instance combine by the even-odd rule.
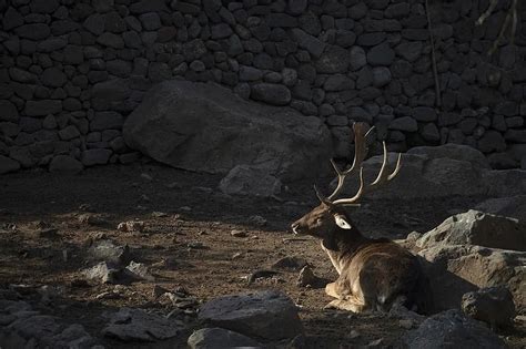
[[[526,225],[518,219],[469,209],[444,220],[417,239],[416,245],[479,245],[526,252]]]

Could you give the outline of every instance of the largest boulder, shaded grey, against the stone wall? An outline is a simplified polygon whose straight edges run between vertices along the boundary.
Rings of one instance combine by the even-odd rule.
[[[174,167],[224,174],[256,165],[282,179],[316,176],[332,148],[317,117],[188,81],[151,89],[125,121],[123,135],[131,148]]]

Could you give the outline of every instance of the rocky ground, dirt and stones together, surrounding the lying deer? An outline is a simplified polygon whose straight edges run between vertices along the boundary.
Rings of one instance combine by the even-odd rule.
[[[375,158],[367,164],[375,166]],[[447,168],[443,175],[454,178]],[[391,194],[378,192],[384,197],[353,214],[367,236],[408,235],[403,243],[429,263],[438,305],[464,309],[426,318],[404,309],[323,309],[330,300],[323,286],[335,270],[318,242],[289,232],[316,204],[311,182],[287,183],[271,197],[224,194],[221,183],[221,176],[148,161],[72,176],[3,176],[0,346],[526,345],[524,230],[516,219],[524,196],[441,196],[429,187],[427,198],[404,197],[394,182]],[[468,212],[483,207],[515,218]],[[523,232],[508,236],[517,250],[498,249],[509,248],[492,233],[498,226]]]

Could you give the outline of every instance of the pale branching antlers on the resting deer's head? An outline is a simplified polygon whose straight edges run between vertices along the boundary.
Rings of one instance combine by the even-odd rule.
[[[383,142],[383,147],[384,147],[384,158],[382,162],[382,167],[380,170],[380,173],[376,177],[376,179],[368,184],[364,185],[364,177],[363,177],[363,161],[365,160],[365,156],[367,155],[367,146],[365,144],[365,138],[366,136],[371,133],[373,129],[371,129],[365,135],[363,134],[363,129],[364,124],[363,123],[355,123],[353,125],[354,129],[354,147],[355,147],[355,153],[354,153],[354,161],[353,165],[351,168],[346,171],[340,171],[340,168],[336,166],[333,160],[331,160],[331,164],[333,165],[334,170],[336,171],[338,183],[334,192],[328,196],[324,197],[320,191],[314,186],[314,191],[316,192],[317,197],[320,198],[321,202],[326,203],[326,204],[333,204],[333,205],[355,205],[360,198],[365,193],[370,193],[380,186],[386,184],[387,182],[392,181],[399,172],[401,170],[401,161],[402,161],[402,154],[398,154],[398,160],[396,162],[396,167],[395,170],[390,174],[387,173],[387,146],[385,145],[385,142]],[[345,177],[354,172],[356,168],[360,167],[360,188],[357,193],[350,198],[340,198],[334,201],[334,198],[340,194],[340,192],[343,188],[343,184],[345,181]]]

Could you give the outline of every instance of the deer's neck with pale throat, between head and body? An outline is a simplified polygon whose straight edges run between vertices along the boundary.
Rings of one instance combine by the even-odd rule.
[[[370,239],[355,227],[351,230],[336,227],[336,230],[332,234],[332,237],[322,240],[322,248],[328,255],[331,263],[340,275],[344,264],[348,260],[346,256],[354,255]]]

